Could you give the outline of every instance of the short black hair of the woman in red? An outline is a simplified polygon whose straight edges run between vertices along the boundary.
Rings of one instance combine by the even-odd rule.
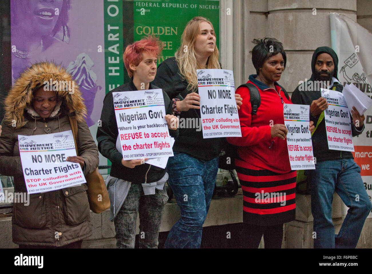
[[[256,69],[257,75],[259,74],[263,63],[271,56],[278,53],[282,54],[285,67],[287,63],[287,56],[281,42],[275,38],[264,37],[262,39],[253,39],[252,43],[256,44],[252,50],[252,63]]]

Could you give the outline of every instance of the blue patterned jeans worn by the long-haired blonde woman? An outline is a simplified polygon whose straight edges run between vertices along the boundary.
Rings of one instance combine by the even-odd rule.
[[[213,195],[218,157],[202,161],[174,152],[167,164],[168,183],[180,207],[181,218],[171,228],[164,248],[200,248],[202,226]]]

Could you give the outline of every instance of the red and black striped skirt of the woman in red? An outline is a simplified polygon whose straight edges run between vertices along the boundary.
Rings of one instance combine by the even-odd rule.
[[[273,226],[296,217],[296,170],[280,174],[236,166],[243,190],[243,222]]]

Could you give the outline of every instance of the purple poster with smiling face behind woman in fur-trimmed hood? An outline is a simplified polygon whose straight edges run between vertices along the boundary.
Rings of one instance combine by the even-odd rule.
[[[12,82],[33,63],[62,64],[80,86],[95,136],[105,97],[103,1],[11,0],[10,8]]]

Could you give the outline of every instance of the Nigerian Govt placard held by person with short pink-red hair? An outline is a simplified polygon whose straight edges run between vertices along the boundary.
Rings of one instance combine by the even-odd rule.
[[[161,89],[112,95],[124,160],[173,156]]]

